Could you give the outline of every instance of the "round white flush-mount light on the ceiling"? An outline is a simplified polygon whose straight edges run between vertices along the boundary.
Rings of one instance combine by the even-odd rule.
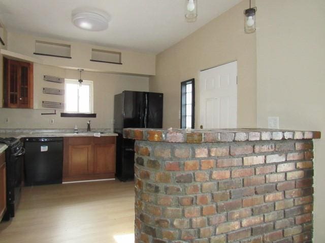
[[[78,28],[102,31],[108,28],[108,16],[100,11],[73,11],[72,22]]]

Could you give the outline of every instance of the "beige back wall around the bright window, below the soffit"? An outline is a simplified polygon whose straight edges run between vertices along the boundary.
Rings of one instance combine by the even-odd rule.
[[[52,112],[43,110],[42,100],[55,101],[59,99],[53,95],[42,94],[43,87],[58,88],[56,84],[43,81],[43,75],[55,75],[65,78],[78,79],[77,70],[62,69],[58,67],[35,64],[34,66],[34,107],[39,109],[0,109],[0,128],[66,128],[73,129],[75,125],[80,129],[86,128],[86,121],[91,120],[92,128],[111,128],[114,117],[114,95],[123,90],[148,91],[148,77],[108,74],[97,72],[84,72],[82,78],[93,81],[93,111],[96,118],[70,118],[57,115],[41,115]],[[54,85],[54,86],[53,86]],[[61,97],[63,98],[63,97]],[[60,101],[60,100],[56,100]],[[63,101],[63,100],[62,100]],[[5,124],[5,118],[9,117],[9,124]],[[54,124],[50,125],[50,119],[54,118]]]

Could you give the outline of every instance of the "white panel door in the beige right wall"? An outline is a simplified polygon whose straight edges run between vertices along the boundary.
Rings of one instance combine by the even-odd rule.
[[[237,61],[201,71],[200,127],[237,127]]]

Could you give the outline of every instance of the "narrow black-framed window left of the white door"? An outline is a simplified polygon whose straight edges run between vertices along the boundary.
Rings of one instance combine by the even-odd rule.
[[[186,85],[192,85],[192,103],[191,103],[191,129],[195,126],[195,79],[191,78],[181,82],[181,129],[186,129]],[[184,92],[185,91],[185,92]],[[185,107],[185,109],[183,109]]]

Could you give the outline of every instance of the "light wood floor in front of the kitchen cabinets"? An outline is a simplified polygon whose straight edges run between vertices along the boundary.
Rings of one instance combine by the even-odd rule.
[[[133,243],[134,182],[23,187],[1,243]]]

